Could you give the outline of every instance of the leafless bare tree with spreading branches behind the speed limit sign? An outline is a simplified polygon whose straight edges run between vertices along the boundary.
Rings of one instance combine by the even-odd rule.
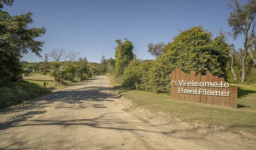
[[[66,68],[72,61],[78,61],[81,53],[81,51],[75,52],[73,49],[66,50],[65,47],[61,47],[60,49],[52,48],[52,50],[49,51],[48,56],[49,60],[62,62],[62,65]]]

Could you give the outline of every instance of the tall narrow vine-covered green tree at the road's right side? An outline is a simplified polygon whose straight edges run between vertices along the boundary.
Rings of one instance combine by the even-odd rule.
[[[115,76],[123,75],[124,69],[129,65],[130,61],[134,59],[133,44],[131,41],[122,42],[120,39],[115,40],[117,47],[115,48]]]

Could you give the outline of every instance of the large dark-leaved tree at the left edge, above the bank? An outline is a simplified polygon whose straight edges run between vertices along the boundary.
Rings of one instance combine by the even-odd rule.
[[[42,41],[34,39],[45,33],[44,28],[28,28],[32,23],[31,12],[25,15],[10,16],[3,11],[4,4],[12,5],[13,0],[0,1],[0,85],[7,81],[22,80],[25,62],[20,57],[29,51],[41,57]]]

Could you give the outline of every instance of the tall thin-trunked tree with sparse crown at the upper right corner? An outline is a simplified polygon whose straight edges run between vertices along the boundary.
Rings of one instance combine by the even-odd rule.
[[[230,0],[228,8],[233,9],[228,18],[228,25],[232,27],[230,35],[233,39],[237,39],[239,35],[244,35],[244,56],[242,59],[242,83],[245,80],[245,61],[248,55],[248,48],[252,46],[256,34],[256,1],[248,0],[243,5],[241,0]],[[249,38],[251,37],[251,38]]]

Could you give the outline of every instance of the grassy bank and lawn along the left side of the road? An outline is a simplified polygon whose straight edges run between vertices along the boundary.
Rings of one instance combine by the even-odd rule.
[[[46,87],[44,87],[46,82]],[[7,83],[0,87],[0,109],[25,103],[36,97],[65,88],[79,81],[63,81],[61,87],[48,74],[33,73],[20,83]]]

